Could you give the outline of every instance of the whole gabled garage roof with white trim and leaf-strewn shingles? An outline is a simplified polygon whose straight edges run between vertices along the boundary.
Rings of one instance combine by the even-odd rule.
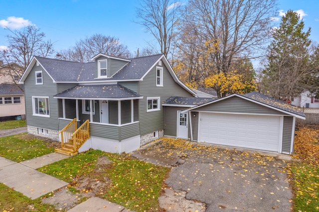
[[[287,103],[285,103],[283,101],[280,101],[280,100],[277,100],[275,98],[266,96],[264,94],[260,94],[260,93],[255,92],[255,91],[254,92],[250,92],[250,93],[245,94],[245,95],[232,94],[232,95],[229,95],[229,96],[226,96],[226,97],[214,99],[211,102],[204,103],[204,104],[199,105],[199,106],[195,106],[195,107],[192,107],[192,108],[185,109],[183,111],[193,110],[193,109],[196,109],[198,107],[206,106],[206,105],[209,105],[209,104],[214,104],[216,102],[223,101],[225,99],[228,99],[228,98],[231,98],[231,97],[235,97],[235,96],[239,97],[239,98],[242,98],[242,99],[245,99],[245,100],[248,100],[248,101],[251,101],[251,102],[254,102],[254,103],[262,105],[262,106],[266,106],[266,107],[269,107],[269,108],[272,108],[272,109],[275,109],[275,110],[278,110],[278,111],[281,111],[281,112],[296,116],[298,118],[306,119],[306,115],[302,111],[301,108],[299,108],[297,106],[293,106],[293,105],[287,104]]]

